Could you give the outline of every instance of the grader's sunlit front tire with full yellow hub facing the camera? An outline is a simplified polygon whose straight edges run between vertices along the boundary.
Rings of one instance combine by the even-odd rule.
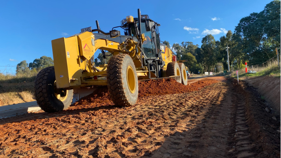
[[[107,66],[107,87],[117,106],[135,105],[139,95],[138,76],[133,59],[128,54],[112,56]]]

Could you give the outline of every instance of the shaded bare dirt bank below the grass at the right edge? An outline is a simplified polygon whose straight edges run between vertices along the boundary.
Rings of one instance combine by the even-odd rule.
[[[280,114],[280,77],[261,76],[249,77],[244,80],[257,88],[262,95],[260,97],[267,100],[270,107],[273,107]]]

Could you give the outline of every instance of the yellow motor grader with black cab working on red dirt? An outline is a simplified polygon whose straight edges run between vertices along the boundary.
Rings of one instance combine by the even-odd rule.
[[[99,86],[107,86],[118,106],[136,104],[139,80],[172,77],[187,85],[186,67],[177,62],[170,48],[160,42],[160,24],[148,15],[127,16],[117,26],[104,32],[81,29],[81,33],[52,40],[54,66],[42,69],[35,79],[35,98],[45,112],[67,109],[73,102],[89,95]],[[96,32],[96,33],[93,33]],[[107,64],[96,66],[94,53],[100,49]]]

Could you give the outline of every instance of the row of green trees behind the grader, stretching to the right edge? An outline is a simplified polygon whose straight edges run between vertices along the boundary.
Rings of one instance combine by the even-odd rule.
[[[191,72],[214,71],[215,67],[227,69],[227,51],[233,69],[261,64],[280,52],[280,0],[274,0],[259,13],[253,12],[243,17],[234,32],[229,30],[225,36],[215,40],[211,34],[202,38],[202,45],[192,42],[174,43],[172,45],[178,60],[186,60],[185,65]],[[168,41],[164,44],[169,46]]]

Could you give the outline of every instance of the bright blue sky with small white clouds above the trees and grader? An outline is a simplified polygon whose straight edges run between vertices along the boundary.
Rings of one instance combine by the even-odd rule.
[[[272,0],[2,0],[0,3],[0,72],[6,65],[52,57],[51,40],[96,28],[109,32],[128,15],[148,14],[161,24],[161,41],[201,46],[206,34],[216,40],[234,31],[239,20],[260,12]],[[100,51],[98,51],[100,53]],[[98,54],[96,53],[95,56]],[[7,67],[8,73],[13,67]]]

